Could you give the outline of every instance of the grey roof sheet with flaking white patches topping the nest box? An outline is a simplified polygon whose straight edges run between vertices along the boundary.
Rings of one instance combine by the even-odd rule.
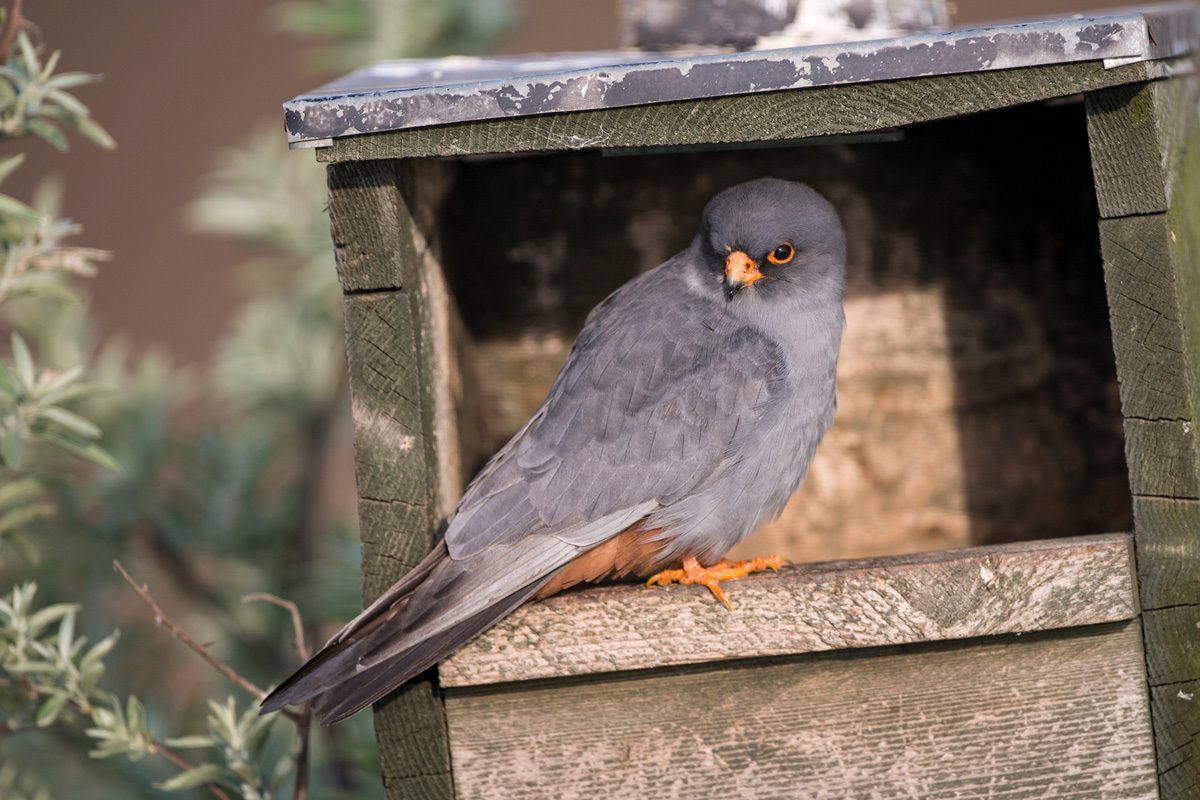
[[[283,104],[288,144],[534,114],[1194,52],[1190,2],[972,30],[719,54],[637,50],[384,61]]]

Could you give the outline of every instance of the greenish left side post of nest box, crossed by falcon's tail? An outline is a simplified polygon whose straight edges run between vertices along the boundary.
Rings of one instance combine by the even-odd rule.
[[[391,164],[330,169],[343,288],[395,287],[343,301],[365,601],[428,552],[455,491],[445,486],[454,443],[439,441],[452,434],[437,355],[448,342],[432,343],[444,313],[431,308],[428,247],[407,211],[415,206],[412,193],[401,201]],[[389,798],[454,796],[444,710],[430,681],[380,703],[374,722]]]

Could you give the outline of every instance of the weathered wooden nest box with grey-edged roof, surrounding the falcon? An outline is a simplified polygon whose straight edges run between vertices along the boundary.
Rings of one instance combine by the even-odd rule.
[[[732,613],[520,609],[377,706],[389,796],[1200,798],[1198,40],[1170,5],[288,103],[329,169],[368,600],[718,191],[803,180],[850,242],[841,410],[749,546],[798,566]]]

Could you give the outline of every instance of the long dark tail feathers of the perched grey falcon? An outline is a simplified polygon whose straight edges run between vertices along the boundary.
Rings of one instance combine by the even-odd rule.
[[[323,724],[344,720],[458,650],[545,583],[542,579],[522,587],[474,615],[425,636],[422,628],[430,625],[428,615],[404,626],[403,612],[413,593],[448,559],[443,542],[271,692],[263,700],[260,712],[311,702],[313,714]],[[376,658],[384,649],[392,652]]]

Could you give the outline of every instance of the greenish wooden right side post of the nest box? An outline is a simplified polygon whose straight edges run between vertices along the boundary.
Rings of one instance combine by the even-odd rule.
[[[1162,800],[1200,798],[1196,86],[1086,96]]]

